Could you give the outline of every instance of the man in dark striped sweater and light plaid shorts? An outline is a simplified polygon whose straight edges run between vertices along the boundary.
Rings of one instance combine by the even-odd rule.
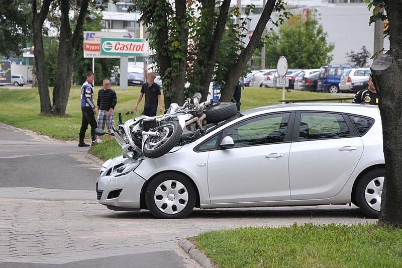
[[[111,133],[111,129],[115,125],[115,106],[117,104],[117,95],[111,88],[109,79],[105,79],[103,82],[103,88],[99,90],[97,95],[97,128],[104,130],[105,124],[108,128],[108,132]],[[98,137],[100,139],[100,137]],[[109,136],[112,138],[112,136]]]

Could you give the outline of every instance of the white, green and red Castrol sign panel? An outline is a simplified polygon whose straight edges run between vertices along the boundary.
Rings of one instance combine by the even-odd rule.
[[[145,39],[101,38],[100,54],[105,56],[147,56]]]

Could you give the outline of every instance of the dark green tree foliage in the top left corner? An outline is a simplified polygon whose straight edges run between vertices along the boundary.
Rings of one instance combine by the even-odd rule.
[[[0,7],[0,55],[20,55],[32,37],[31,9],[22,0],[0,0]]]

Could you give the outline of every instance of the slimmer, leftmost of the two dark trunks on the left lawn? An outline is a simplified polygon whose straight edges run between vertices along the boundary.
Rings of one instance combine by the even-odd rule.
[[[43,50],[42,27],[49,12],[50,0],[43,1],[39,13],[37,13],[36,1],[31,1],[32,8],[32,32],[34,41],[35,56],[35,75],[38,82],[38,91],[40,99],[41,114],[50,114],[52,107],[50,105],[49,85],[45,68],[45,52]]]

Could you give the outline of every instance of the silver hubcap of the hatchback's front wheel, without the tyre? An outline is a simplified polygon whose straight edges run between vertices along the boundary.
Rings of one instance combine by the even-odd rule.
[[[176,180],[164,181],[156,188],[154,201],[163,213],[176,214],[186,207],[188,192],[185,186]]]

